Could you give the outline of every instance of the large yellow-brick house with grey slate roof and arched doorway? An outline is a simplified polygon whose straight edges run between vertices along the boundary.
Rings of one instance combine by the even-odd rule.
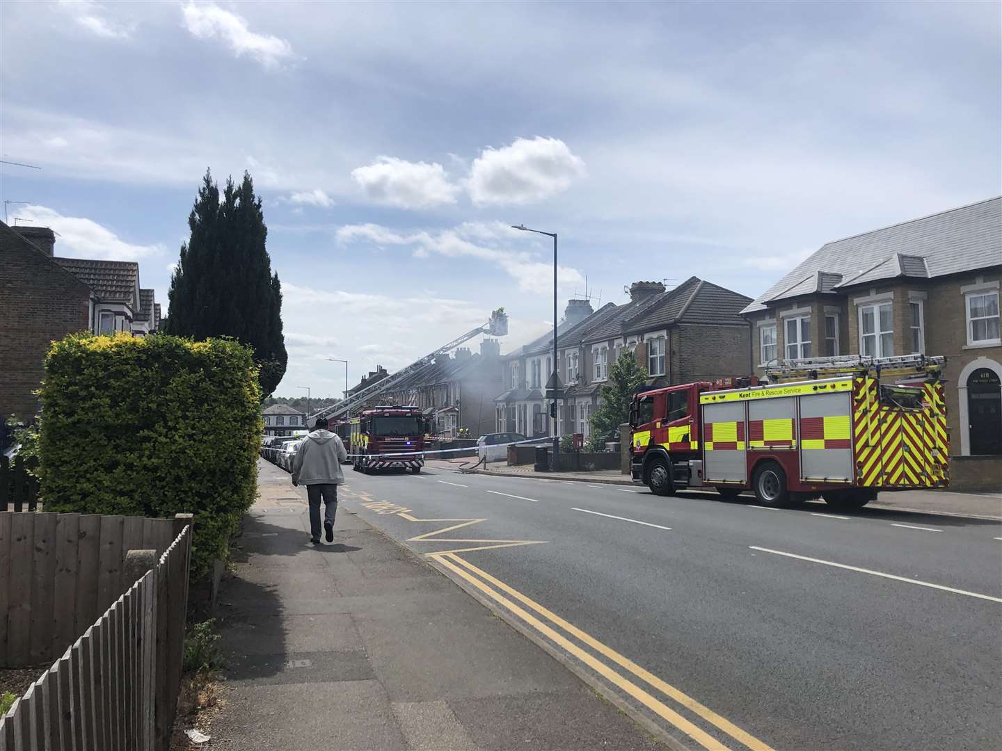
[[[773,359],[945,355],[952,487],[1002,486],[1002,197],[828,242],[741,312]]]

